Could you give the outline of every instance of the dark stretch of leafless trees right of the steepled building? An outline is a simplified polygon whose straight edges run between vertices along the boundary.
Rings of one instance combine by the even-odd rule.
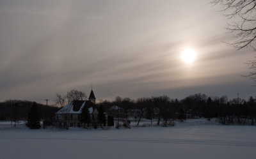
[[[174,120],[183,121],[188,118],[218,118],[223,125],[255,125],[256,98],[248,100],[227,96],[207,96],[202,93],[190,95],[182,100],[168,96],[152,96],[150,98],[121,98],[98,103],[108,110],[108,116],[115,118],[117,125],[129,126],[134,120],[140,125],[142,118],[150,119],[151,125],[173,126]],[[115,107],[113,107],[115,105]],[[154,123],[155,122],[155,123]]]

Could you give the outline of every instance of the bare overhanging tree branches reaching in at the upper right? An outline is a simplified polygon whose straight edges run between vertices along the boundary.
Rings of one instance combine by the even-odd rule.
[[[246,47],[256,50],[256,1],[212,0],[212,4],[221,4],[225,15],[232,21],[228,23],[227,31],[236,34],[236,40],[228,44],[238,50]],[[245,77],[256,80],[256,60],[248,61],[246,64],[253,71]]]

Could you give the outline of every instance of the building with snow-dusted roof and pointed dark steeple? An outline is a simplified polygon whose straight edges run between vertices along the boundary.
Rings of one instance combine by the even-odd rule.
[[[102,123],[98,122],[98,109],[95,105],[95,95],[93,91],[91,91],[90,96],[88,100],[73,100],[72,102],[68,103],[65,107],[60,109],[55,114],[55,125],[59,126],[61,128],[67,128],[67,127],[80,127],[84,126],[83,123],[81,123],[81,112],[83,107],[88,107],[88,110],[90,112],[90,119],[91,123],[89,123],[90,126],[97,126],[102,125]],[[106,117],[106,125],[108,121],[108,114],[104,113]],[[87,125],[86,125],[87,126]]]

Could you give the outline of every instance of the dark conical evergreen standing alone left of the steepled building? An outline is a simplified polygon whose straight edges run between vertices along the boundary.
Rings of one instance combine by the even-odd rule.
[[[33,102],[30,107],[29,114],[28,114],[28,123],[26,125],[31,129],[41,128],[40,117],[38,116],[38,113],[37,113],[36,102]]]

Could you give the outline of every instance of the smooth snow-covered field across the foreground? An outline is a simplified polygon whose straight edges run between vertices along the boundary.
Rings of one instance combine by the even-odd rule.
[[[256,158],[256,126],[190,119],[175,126],[84,130],[0,124],[0,158]]]

